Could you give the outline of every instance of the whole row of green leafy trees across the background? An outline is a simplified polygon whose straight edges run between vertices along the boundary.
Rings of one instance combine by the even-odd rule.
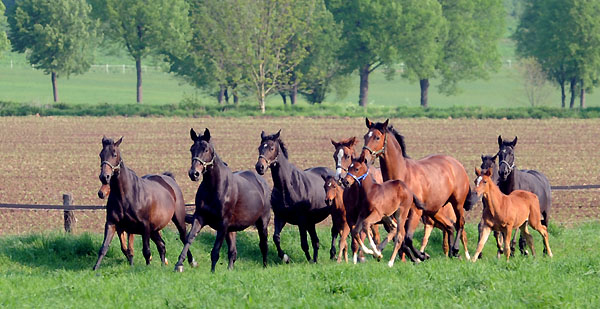
[[[571,107],[598,82],[597,1],[525,0],[514,35]],[[502,0],[17,0],[8,9],[12,48],[52,79],[86,72],[102,40],[117,42],[136,63],[142,102],[142,61],[159,55],[171,72],[216,95],[219,103],[253,95],[260,109],[279,94],[296,102],[325,95],[360,76],[359,104],[369,76],[419,82],[428,105],[430,81],[453,94],[463,80],[487,78],[500,66],[505,31]],[[7,46],[0,34],[0,49]],[[4,44],[4,45],[3,45]]]

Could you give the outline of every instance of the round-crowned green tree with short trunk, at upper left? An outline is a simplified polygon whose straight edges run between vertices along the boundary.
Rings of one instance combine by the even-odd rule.
[[[9,14],[12,48],[27,52],[36,69],[51,75],[54,101],[61,75],[86,72],[93,61],[97,23],[85,0],[21,0]]]

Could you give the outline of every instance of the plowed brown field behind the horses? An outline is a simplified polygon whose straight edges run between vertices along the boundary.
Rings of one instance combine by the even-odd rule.
[[[373,119],[380,120],[380,119]],[[408,155],[456,157],[470,177],[481,154],[497,151],[497,138],[518,135],[516,165],[537,169],[552,185],[600,184],[598,120],[432,120],[392,119],[405,136]],[[333,167],[330,138],[366,132],[364,119],[315,118],[0,118],[0,203],[61,204],[73,194],[77,205],[101,205],[96,192],[102,135],[124,136],[122,156],[138,175],[171,171],[187,202],[198,183],[187,177],[190,127],[210,128],[218,155],[233,170],[253,169],[260,132],[282,129],[290,160],[301,168]],[[271,183],[270,174],[266,175]],[[573,223],[600,218],[600,190],[554,191],[551,221]],[[470,222],[481,206],[469,213]],[[79,211],[77,231],[103,230],[102,211]],[[61,211],[0,209],[0,234],[60,229]]]

